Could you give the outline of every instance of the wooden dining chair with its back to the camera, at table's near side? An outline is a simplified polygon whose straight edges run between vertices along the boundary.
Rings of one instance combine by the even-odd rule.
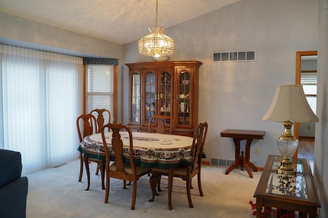
[[[112,132],[111,142],[106,141],[105,129],[109,128]],[[124,148],[121,133],[122,131],[127,132],[129,135],[129,160],[125,159]],[[108,203],[109,198],[109,185],[110,178],[121,179],[124,181],[123,188],[126,189],[126,180],[133,182],[133,193],[132,193],[132,204],[131,210],[134,210],[136,194],[137,194],[137,181],[141,176],[144,176],[150,172],[150,168],[141,167],[134,163],[133,155],[133,138],[132,132],[129,127],[122,124],[106,124],[101,128],[101,137],[103,138],[104,149],[106,154],[106,195],[105,204]],[[110,164],[110,156],[108,151],[108,144],[112,144],[112,148],[115,154],[114,163]]]

